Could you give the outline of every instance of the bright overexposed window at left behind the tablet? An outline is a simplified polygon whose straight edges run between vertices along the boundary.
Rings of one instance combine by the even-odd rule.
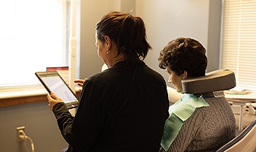
[[[35,71],[68,65],[70,2],[0,2],[0,87],[39,84]]]

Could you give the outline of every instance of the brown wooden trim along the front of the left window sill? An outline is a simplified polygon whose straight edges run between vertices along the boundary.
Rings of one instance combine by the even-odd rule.
[[[35,102],[47,102],[47,94],[37,96],[20,96],[8,99],[0,99],[0,107],[7,107],[11,105],[23,105]],[[80,92],[76,92],[76,97],[80,98]]]

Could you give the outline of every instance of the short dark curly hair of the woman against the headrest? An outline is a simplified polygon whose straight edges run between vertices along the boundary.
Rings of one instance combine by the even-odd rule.
[[[206,50],[200,42],[192,38],[176,38],[160,52],[160,68],[168,68],[177,75],[187,71],[187,77],[205,75],[208,59]]]

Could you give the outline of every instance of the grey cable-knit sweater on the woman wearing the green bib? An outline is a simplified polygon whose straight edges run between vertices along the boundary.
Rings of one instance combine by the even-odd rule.
[[[203,95],[210,106],[196,108],[167,151],[216,151],[236,136],[236,121],[224,97]]]

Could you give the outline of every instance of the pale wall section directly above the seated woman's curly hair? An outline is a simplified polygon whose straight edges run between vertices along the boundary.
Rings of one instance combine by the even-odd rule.
[[[209,0],[136,1],[136,13],[145,21],[155,49],[181,36],[196,38],[207,47],[208,10]]]

